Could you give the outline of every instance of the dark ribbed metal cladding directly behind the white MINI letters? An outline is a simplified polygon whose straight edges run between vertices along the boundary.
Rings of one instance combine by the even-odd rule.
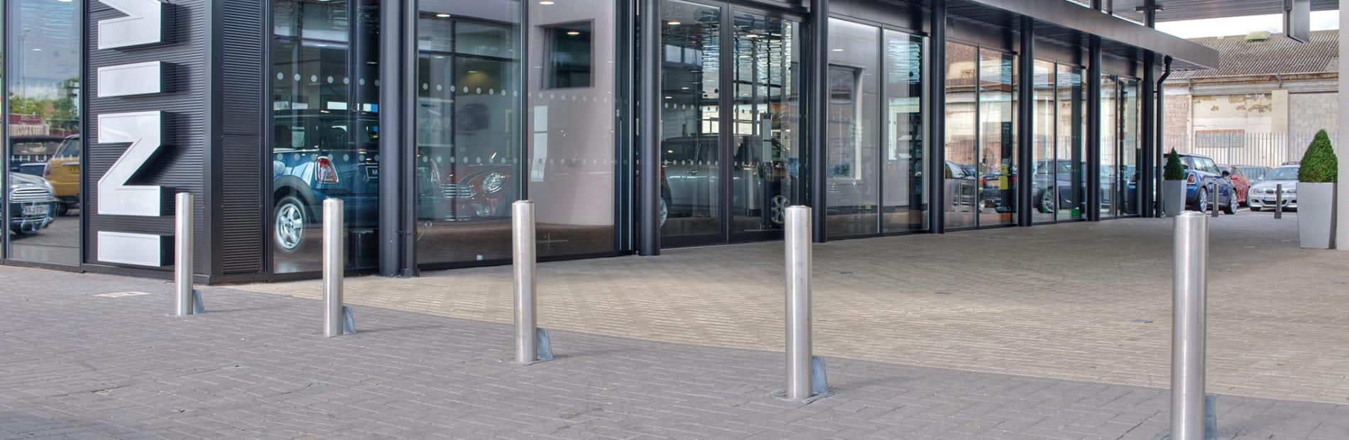
[[[202,128],[205,84],[202,81],[202,66],[205,63],[205,8],[208,0],[183,0],[166,4],[165,8],[165,43],[146,47],[121,47],[112,50],[98,50],[98,22],[120,18],[124,13],[112,9],[101,1],[89,1],[88,40],[85,50],[89,62],[85,66],[85,90],[98,89],[98,67],[125,65],[135,62],[162,61],[165,69],[163,93],[150,96],[128,97],[97,97],[89,94],[85,120],[85,162],[84,178],[88,189],[84,192],[84,207],[90,207],[88,215],[89,227],[85,229],[85,263],[103,265],[98,262],[98,231],[139,232],[173,235],[173,193],[192,192],[197,196],[197,219],[205,219],[205,202],[202,185],[205,180],[205,154]],[[256,81],[256,80],[254,80]],[[98,115],[120,112],[163,111],[163,147],[158,158],[142,169],[142,173],[132,180],[136,185],[159,185],[165,188],[169,198],[165,204],[165,216],[138,217],[138,216],[104,216],[97,215],[97,181],[112,166],[127,144],[93,143],[98,131]],[[202,223],[197,223],[197,260],[204,262],[210,248],[210,240],[205,239]],[[171,267],[162,267],[167,271]]]

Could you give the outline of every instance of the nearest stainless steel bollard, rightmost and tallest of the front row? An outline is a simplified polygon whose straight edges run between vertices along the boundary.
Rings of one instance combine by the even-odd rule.
[[[1203,439],[1205,316],[1209,294],[1209,220],[1183,212],[1175,224],[1171,321],[1171,439]]]

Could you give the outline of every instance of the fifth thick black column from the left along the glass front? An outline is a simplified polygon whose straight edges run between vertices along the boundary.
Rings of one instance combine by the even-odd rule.
[[[1021,18],[1021,84],[1017,89],[1017,224],[1031,225],[1031,178],[1035,171],[1035,20]]]

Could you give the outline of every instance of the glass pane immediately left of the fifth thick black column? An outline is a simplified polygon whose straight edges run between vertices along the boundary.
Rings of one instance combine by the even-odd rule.
[[[1016,224],[1016,57],[979,54],[979,225]]]

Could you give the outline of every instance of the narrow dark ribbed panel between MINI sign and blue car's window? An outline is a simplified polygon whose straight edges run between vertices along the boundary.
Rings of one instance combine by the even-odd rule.
[[[223,121],[214,139],[221,158],[214,166],[219,174],[220,220],[220,260],[216,265],[223,274],[248,274],[263,271],[263,243],[266,238],[267,209],[263,208],[266,178],[263,158],[267,151],[263,135],[263,88],[267,73],[263,70],[267,35],[264,20],[259,18],[270,12],[263,8],[267,1],[221,1],[224,30],[220,38],[221,57],[221,112]]]

